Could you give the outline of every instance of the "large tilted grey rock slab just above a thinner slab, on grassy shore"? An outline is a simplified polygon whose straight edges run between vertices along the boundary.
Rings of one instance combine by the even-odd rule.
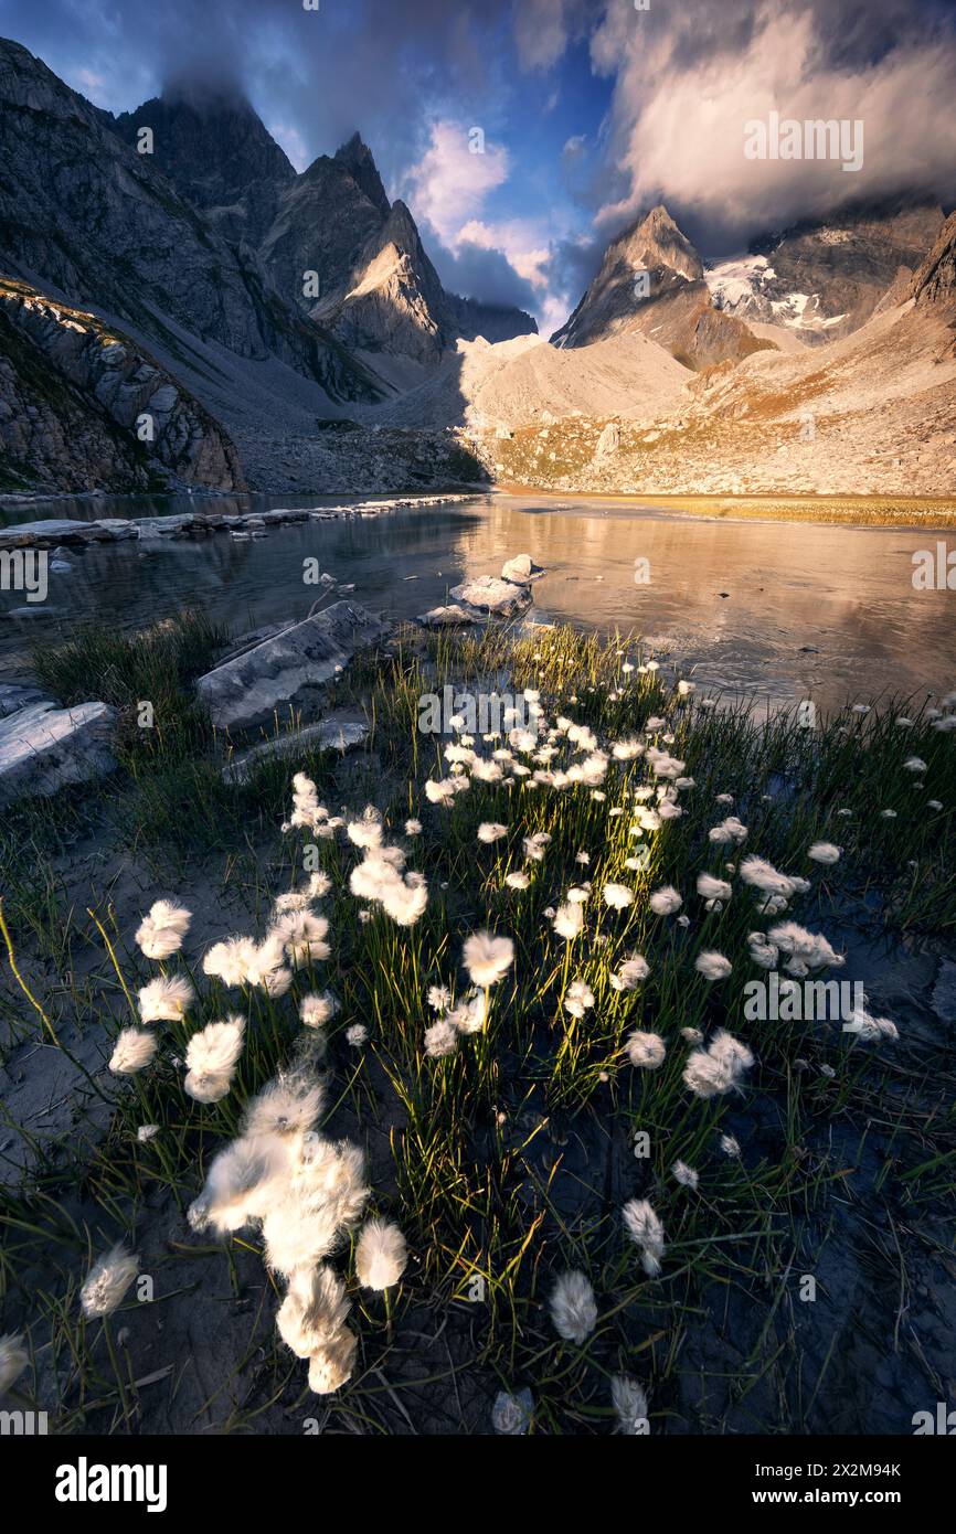
[[[219,730],[272,726],[276,713],[284,724],[288,709],[315,710],[348,661],[384,637],[374,614],[336,601],[199,676],[196,693]]]

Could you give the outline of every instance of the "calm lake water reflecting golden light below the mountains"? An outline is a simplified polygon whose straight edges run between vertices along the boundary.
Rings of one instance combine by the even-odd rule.
[[[210,505],[235,511],[322,502],[104,497],[92,506],[57,502],[8,512],[5,520]],[[772,706],[813,698],[822,709],[885,692],[948,692],[956,686],[956,592],[916,592],[911,584],[913,551],[935,546],[936,537],[942,534],[479,495],[275,528],[249,543],[218,532],[196,542],[101,545],[71,551],[72,571],[51,574],[45,617],[9,618],[23,597],[0,592],[0,673],[21,673],[32,643],[69,634],[89,617],[135,629],[199,606],[233,630],[305,617],[316,597],[302,580],[310,557],[339,581],[353,581],[354,600],[399,618],[528,552],[548,569],[534,588],[537,618],[632,630],[644,650],[694,666],[704,690],[752,692]],[[638,560],[649,561],[649,584],[635,580]]]

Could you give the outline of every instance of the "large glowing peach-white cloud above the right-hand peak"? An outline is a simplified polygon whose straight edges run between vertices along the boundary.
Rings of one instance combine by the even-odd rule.
[[[812,9],[761,0],[747,8],[752,25],[738,46],[694,49],[671,29],[635,26],[625,9],[611,6],[592,38],[595,67],[615,75],[611,143],[631,181],[629,193],[598,213],[608,230],[660,195],[724,227],[758,227],[907,186],[953,189],[951,46],[910,35],[878,63],[829,61]],[[861,120],[862,169],[747,160],[744,124],[770,110],[801,123]]]

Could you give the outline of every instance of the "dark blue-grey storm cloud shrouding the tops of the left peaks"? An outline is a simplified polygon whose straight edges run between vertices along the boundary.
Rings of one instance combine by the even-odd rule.
[[[408,163],[428,103],[488,107],[506,0],[3,0],[0,31],[98,104],[129,110],[164,84],[241,87],[310,156],[361,123],[385,175]]]

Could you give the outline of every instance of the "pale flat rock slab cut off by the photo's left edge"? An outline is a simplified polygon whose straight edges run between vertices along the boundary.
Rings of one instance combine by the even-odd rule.
[[[115,721],[117,710],[106,703],[72,709],[32,703],[0,719],[0,804],[112,772]]]

